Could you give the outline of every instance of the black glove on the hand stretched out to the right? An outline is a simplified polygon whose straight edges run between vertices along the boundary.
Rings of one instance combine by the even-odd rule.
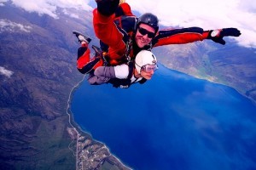
[[[209,31],[207,39],[212,39],[213,42],[217,42],[220,44],[225,44],[223,37],[231,36],[231,37],[239,37],[241,32],[236,28],[224,28],[220,30],[211,30]]]

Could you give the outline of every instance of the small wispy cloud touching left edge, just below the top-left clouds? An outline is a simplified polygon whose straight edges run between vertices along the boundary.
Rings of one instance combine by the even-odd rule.
[[[10,20],[0,20],[0,32],[3,31],[25,31],[30,32],[31,26],[23,26]]]

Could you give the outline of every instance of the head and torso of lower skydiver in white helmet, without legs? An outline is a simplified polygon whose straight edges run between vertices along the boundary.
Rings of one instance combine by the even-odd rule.
[[[157,59],[151,51],[142,50],[128,64],[99,66],[88,78],[90,84],[111,83],[115,88],[129,88],[131,84],[143,84],[150,80],[158,69]]]

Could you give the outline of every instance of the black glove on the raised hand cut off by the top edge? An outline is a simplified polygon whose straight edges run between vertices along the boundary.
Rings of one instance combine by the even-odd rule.
[[[119,0],[96,0],[97,10],[105,16],[110,16],[119,7]]]

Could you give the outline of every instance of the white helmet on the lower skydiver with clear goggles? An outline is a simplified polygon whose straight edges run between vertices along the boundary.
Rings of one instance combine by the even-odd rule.
[[[156,65],[157,60],[155,55],[148,50],[140,51],[135,58],[135,68],[140,74],[143,65]]]

